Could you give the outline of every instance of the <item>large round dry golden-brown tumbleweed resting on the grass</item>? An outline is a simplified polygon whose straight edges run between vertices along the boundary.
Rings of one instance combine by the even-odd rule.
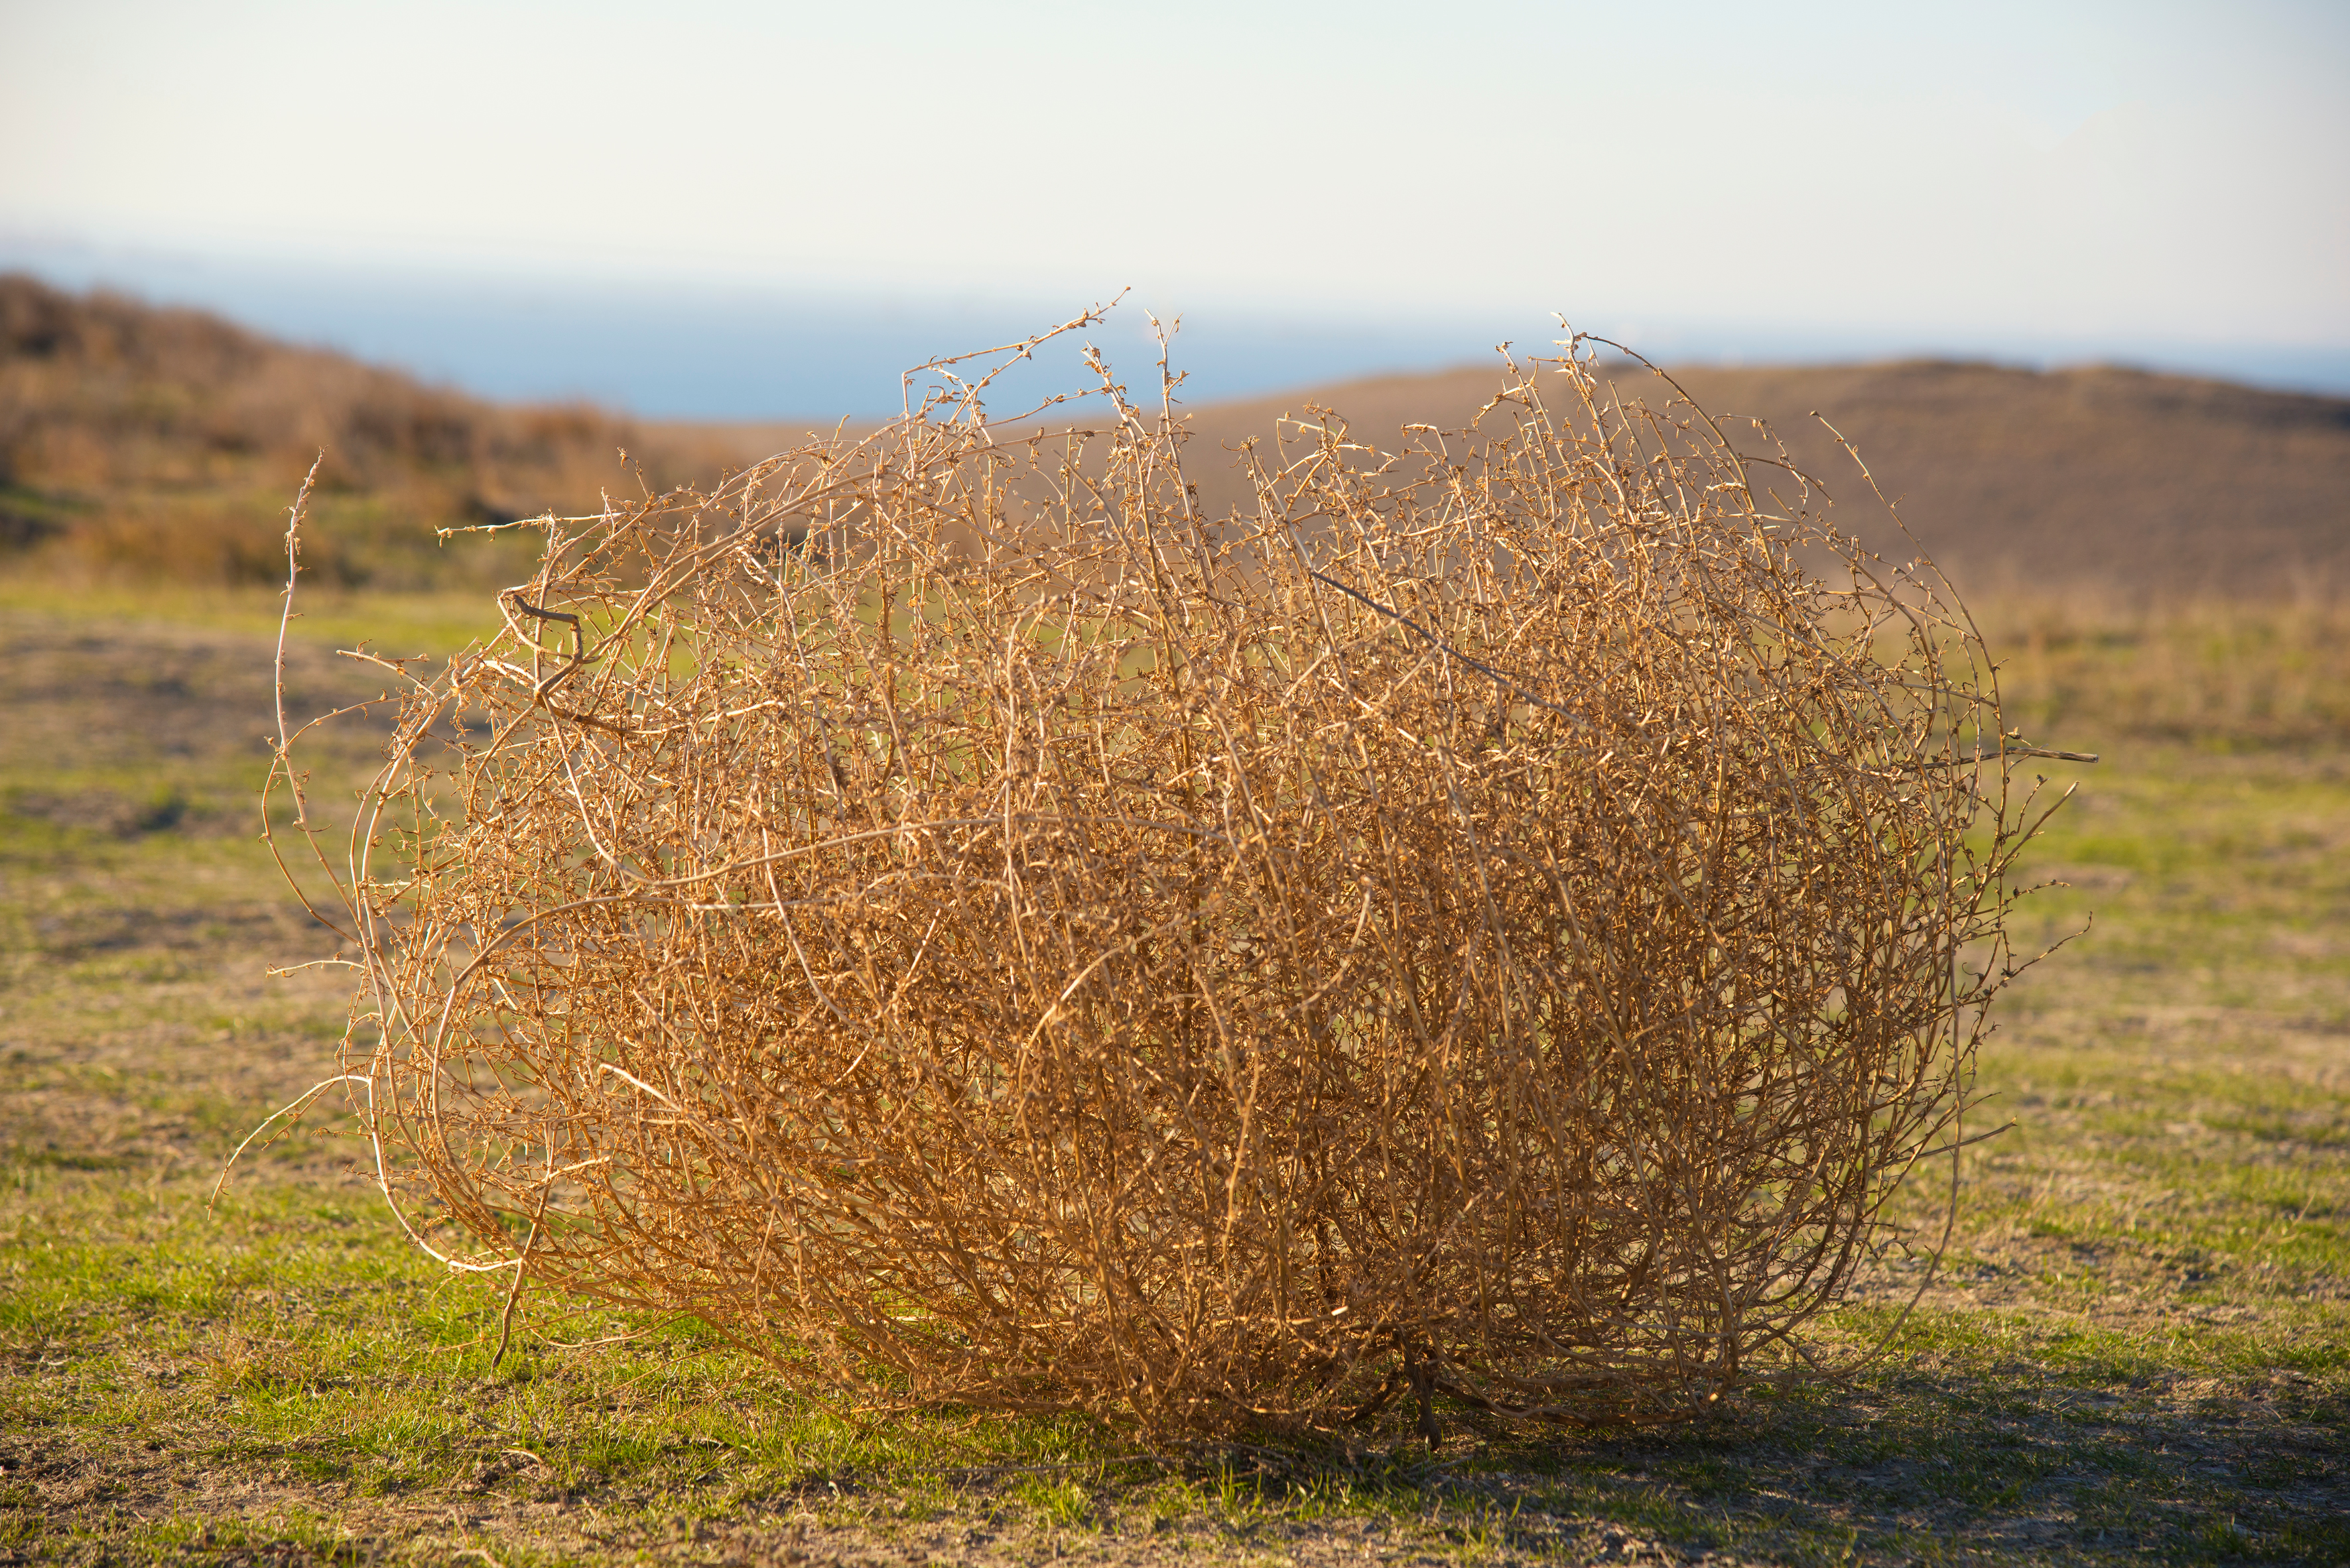
[[[1396,453],[1292,423],[1217,519],[1104,387],[545,519],[350,836],[388,1192],[872,1401],[1786,1364],[2016,967],[1946,584],[1572,357]]]

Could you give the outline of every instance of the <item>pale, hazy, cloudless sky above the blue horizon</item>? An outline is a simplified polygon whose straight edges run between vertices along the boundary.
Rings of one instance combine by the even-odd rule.
[[[2350,5],[0,0],[0,239],[2350,347]]]

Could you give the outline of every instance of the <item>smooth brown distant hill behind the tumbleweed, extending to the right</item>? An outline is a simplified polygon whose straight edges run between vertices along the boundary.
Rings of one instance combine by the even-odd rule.
[[[1835,498],[1838,526],[1887,556],[1899,538],[1814,411],[1852,439],[1901,521],[1969,594],[2120,599],[2350,596],[2350,399],[2258,392],[2122,369],[2016,371],[1901,361],[1817,369],[1671,366],[1746,451],[1762,418]],[[1647,371],[1610,378],[1647,399]],[[1405,423],[1457,427],[1497,369],[1386,376],[1191,413],[1201,500],[1246,500],[1217,446],[1318,404],[1356,439]]]

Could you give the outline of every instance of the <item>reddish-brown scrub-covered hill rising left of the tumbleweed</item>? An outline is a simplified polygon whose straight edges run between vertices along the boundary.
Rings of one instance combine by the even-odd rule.
[[[620,453],[627,451],[625,467]],[[421,589],[515,549],[435,528],[592,507],[736,451],[585,404],[501,406],[195,310],[0,275],[0,552],[68,575],[280,582],[284,509],[324,453],[308,563]]]

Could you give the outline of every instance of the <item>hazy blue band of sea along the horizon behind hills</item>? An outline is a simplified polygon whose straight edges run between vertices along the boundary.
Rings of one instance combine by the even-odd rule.
[[[592,401],[656,420],[877,418],[900,401],[900,373],[935,354],[1015,340],[1067,319],[1086,300],[935,300],[888,291],[790,291],[679,284],[545,284],[463,275],[371,275],[270,268],[207,256],[103,254],[28,246],[0,235],[0,270],[54,286],[110,289],[155,305],[209,310],[254,331],[385,364],[498,401]],[[2350,347],[1927,338],[1821,326],[1758,331],[1723,322],[1579,319],[1664,364],[1840,364],[1981,359],[2026,369],[2122,364],[2211,376],[2287,392],[2350,397]],[[1142,305],[1126,303],[1086,333],[1121,380],[1154,385],[1156,343]],[[1384,373],[1426,373],[1518,352],[1556,352],[1558,324],[1539,317],[1344,319],[1215,307],[1187,315],[1173,366],[1189,404],[1260,397]],[[1069,345],[1074,350],[1074,343]],[[1074,352],[1015,390],[1081,390]],[[999,404],[1008,406],[1008,404]]]

